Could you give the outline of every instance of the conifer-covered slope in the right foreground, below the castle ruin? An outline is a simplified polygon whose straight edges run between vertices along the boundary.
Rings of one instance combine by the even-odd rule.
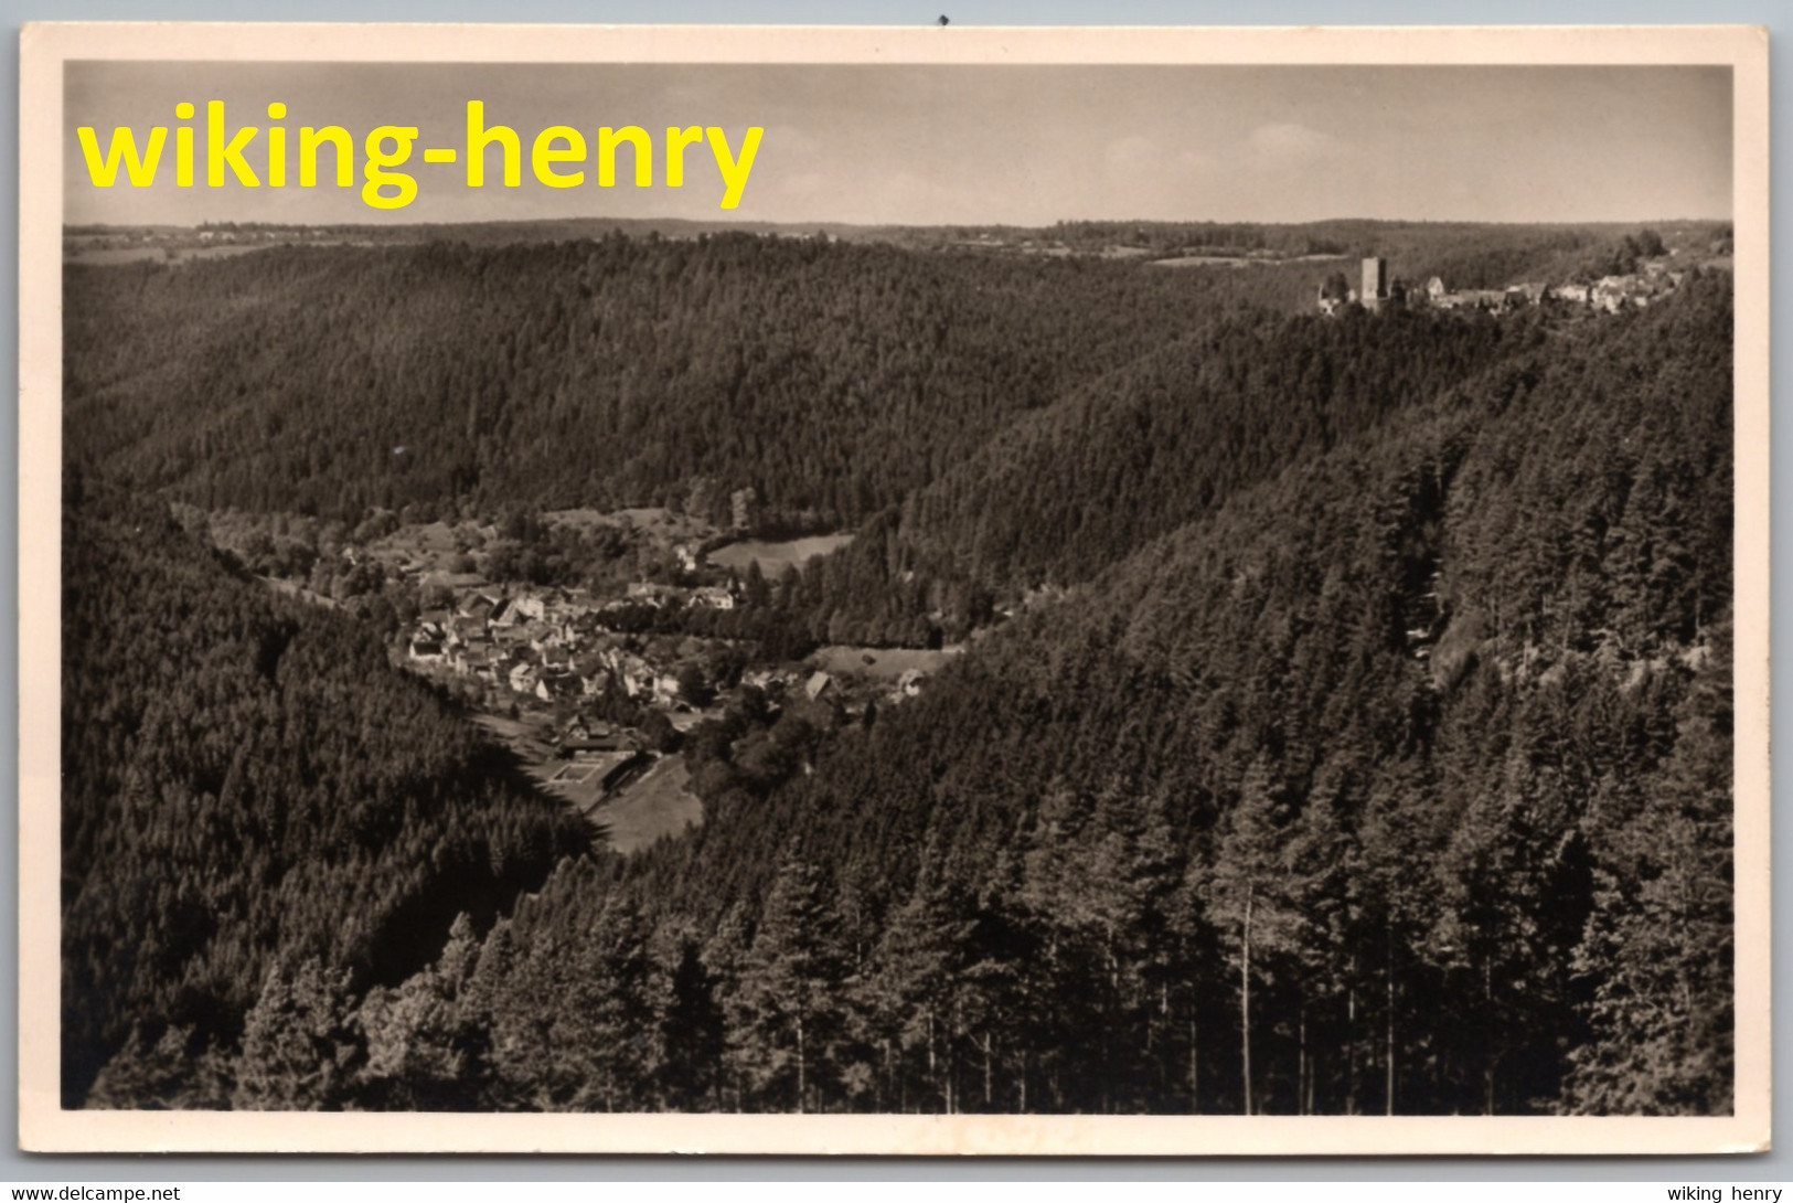
[[[1728,326],[1712,280],[1547,342],[812,775],[714,776],[701,832],[500,925],[495,1042],[645,914],[690,938],[610,977],[660,1006],[629,1106],[1728,1110]],[[497,1067],[579,1104],[536,1074]]]

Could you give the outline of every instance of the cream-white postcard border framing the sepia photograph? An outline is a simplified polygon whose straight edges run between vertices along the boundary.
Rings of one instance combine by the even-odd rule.
[[[1728,65],[1736,226],[1736,1104],[1714,1119],[63,1112],[61,154],[70,59]],[[20,66],[20,1144],[66,1153],[1746,1153],[1770,1135],[1768,54],[1759,27],[866,29],[34,23]]]

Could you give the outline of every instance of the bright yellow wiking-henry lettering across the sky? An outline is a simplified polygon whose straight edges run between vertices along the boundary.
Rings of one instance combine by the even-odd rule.
[[[194,104],[186,100],[176,104],[174,115],[178,122],[194,120]],[[208,188],[230,183],[242,188],[285,188],[290,181],[299,188],[316,188],[319,179],[337,188],[355,186],[355,136],[342,125],[299,125],[298,131],[289,131],[280,124],[285,117],[287,106],[276,100],[267,106],[269,125],[231,127],[224,102],[210,100],[203,140],[195,138],[201,131],[190,124],[151,125],[142,143],[134,129],[118,125],[111,129],[104,149],[100,149],[100,131],[93,125],[81,125],[75,133],[95,188],[118,185],[120,169],[124,183],[133,188],[154,185],[163,167],[170,129],[174,183],[181,188],[201,183],[201,161],[203,183]],[[360,199],[380,210],[411,204],[418,197],[418,176],[398,169],[411,163],[414,151],[423,163],[464,165],[468,188],[486,186],[488,169],[495,183],[506,188],[522,186],[525,158],[529,172],[547,188],[577,188],[588,181],[595,181],[599,188],[611,188],[617,185],[617,160],[626,149],[624,161],[638,188],[654,186],[656,174],[660,185],[681,188],[687,154],[712,160],[721,185],[719,208],[732,210],[741,204],[764,133],[760,125],[748,125],[741,145],[732,147],[728,131],[719,125],[667,125],[656,145],[654,133],[640,125],[601,125],[590,140],[572,125],[547,125],[525,142],[511,125],[488,125],[484,100],[468,100],[466,136],[461,145],[416,147],[416,125],[369,129],[359,145]],[[195,142],[203,143],[203,154],[195,151]]]

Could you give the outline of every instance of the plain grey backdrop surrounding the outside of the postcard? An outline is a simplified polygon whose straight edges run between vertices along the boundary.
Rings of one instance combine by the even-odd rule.
[[[282,5],[276,0],[0,0],[5,56],[0,63],[0,224],[18,228],[18,29],[30,20],[307,20],[307,22],[568,22],[568,23],[782,23],[782,25],[931,25],[940,14],[954,25],[1572,25],[1572,23],[1754,23],[1770,27],[1773,88],[1773,228],[1786,215],[1793,113],[1784,81],[1793,70],[1788,39],[1793,9],[1786,0],[321,0]],[[1793,256],[1780,237],[1773,246],[1773,341],[1788,341],[1786,289]],[[4,341],[0,371],[18,373],[18,273],[5,256],[0,273]],[[1773,396],[1793,384],[1786,357],[1775,355]],[[1773,477],[1793,466],[1793,425],[1773,423]],[[1784,619],[1793,606],[1793,493],[1775,489],[1773,506],[1773,692],[1788,696],[1793,669],[1784,653]],[[1793,717],[1779,706],[1773,742],[1793,746]],[[0,832],[18,832],[18,416],[0,412]],[[1775,794],[1789,769],[1777,758]],[[1773,828],[1773,859],[1793,864],[1793,830]],[[1788,930],[1788,889],[1777,875],[1773,920]],[[1786,1181],[1793,1180],[1793,1128],[1788,1104],[1775,1110],[1775,1153],[1743,1158],[1205,1158],[1205,1160],[875,1160],[875,1158],[473,1158],[473,1156],[32,1156],[16,1147],[18,1131],[18,857],[0,857],[0,1181],[231,1181],[231,1180],[1637,1180],[1637,1181]],[[1793,1047],[1788,1015],[1793,974],[1775,957],[1773,995],[1775,1094],[1789,1083]],[[1737,1049],[1739,1058],[1752,1056]]]

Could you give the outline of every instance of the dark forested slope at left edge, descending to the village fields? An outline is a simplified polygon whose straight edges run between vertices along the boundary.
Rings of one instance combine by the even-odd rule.
[[[588,848],[366,629],[165,506],[70,473],[63,547],[65,1101],[271,1099],[226,1056],[264,984],[396,982]]]

